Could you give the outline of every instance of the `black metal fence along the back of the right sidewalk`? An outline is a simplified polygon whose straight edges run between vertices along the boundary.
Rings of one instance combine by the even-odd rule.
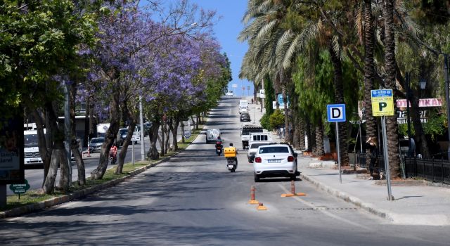
[[[367,168],[366,153],[356,154],[356,164]],[[450,162],[448,160],[419,159],[417,157],[405,157],[401,155],[402,173],[406,178],[420,177],[427,181],[450,184]],[[385,160],[383,155],[378,155],[375,170],[385,172]]]

